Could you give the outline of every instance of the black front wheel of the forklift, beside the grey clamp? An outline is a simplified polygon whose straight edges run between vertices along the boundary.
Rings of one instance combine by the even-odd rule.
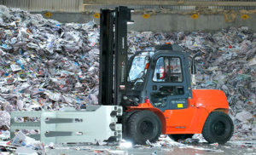
[[[161,131],[160,118],[150,111],[135,112],[127,123],[127,132],[133,144],[146,144],[147,140],[155,142]]]

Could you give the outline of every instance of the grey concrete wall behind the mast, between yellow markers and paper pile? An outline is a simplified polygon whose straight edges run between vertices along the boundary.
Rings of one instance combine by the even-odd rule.
[[[41,13],[43,14],[43,13]],[[201,14],[198,19],[194,20],[191,16],[183,14],[155,14],[148,19],[143,19],[142,14],[132,14],[132,20],[135,24],[129,26],[133,31],[152,31],[152,32],[177,32],[177,31],[215,31],[229,26],[248,26],[249,29],[256,32],[256,14],[248,14],[247,20],[241,19],[241,14],[236,15],[236,20],[226,22],[224,14]],[[83,13],[53,13],[51,19],[60,22],[78,22],[84,23],[95,20],[92,14]]]

